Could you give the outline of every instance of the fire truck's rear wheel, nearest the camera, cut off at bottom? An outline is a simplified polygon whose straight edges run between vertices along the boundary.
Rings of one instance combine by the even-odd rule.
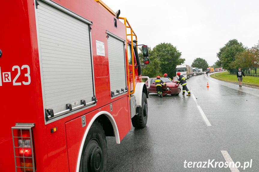
[[[81,156],[81,172],[104,172],[107,166],[107,141],[104,130],[95,121],[86,136]]]

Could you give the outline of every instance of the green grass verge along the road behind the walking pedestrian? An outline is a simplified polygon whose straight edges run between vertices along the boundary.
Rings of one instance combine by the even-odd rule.
[[[228,71],[214,73],[214,74],[211,74],[210,77],[218,80],[238,83],[236,75],[232,75]],[[242,83],[259,86],[259,77],[251,77],[251,76],[243,77]]]

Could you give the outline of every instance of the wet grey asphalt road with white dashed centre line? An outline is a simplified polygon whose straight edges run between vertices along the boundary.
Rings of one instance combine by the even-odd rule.
[[[188,79],[187,87],[188,97],[150,93],[146,127],[132,127],[121,144],[107,137],[107,172],[259,171],[259,90],[205,74]],[[229,157],[240,167],[215,168]],[[204,165],[213,159],[213,168]]]

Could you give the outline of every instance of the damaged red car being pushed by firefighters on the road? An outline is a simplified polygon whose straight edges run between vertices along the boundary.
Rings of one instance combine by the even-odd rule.
[[[148,90],[148,92],[154,92],[157,93],[156,87],[155,87],[155,79],[156,78],[149,78],[150,81],[150,87]],[[173,82],[165,77],[161,77],[160,78],[162,81],[164,81],[164,83],[166,83],[166,86],[162,85],[162,91],[163,91],[163,96],[170,94],[170,95],[179,95],[179,93],[181,92],[181,87],[176,85],[177,82],[177,77],[173,77]],[[146,86],[148,86],[147,81],[145,82]]]

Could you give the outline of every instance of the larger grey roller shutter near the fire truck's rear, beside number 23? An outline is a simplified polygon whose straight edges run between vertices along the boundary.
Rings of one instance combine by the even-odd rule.
[[[81,100],[92,102],[92,22],[52,1],[38,2],[35,13],[44,109],[53,109],[55,114],[67,110],[66,104],[74,108]]]

